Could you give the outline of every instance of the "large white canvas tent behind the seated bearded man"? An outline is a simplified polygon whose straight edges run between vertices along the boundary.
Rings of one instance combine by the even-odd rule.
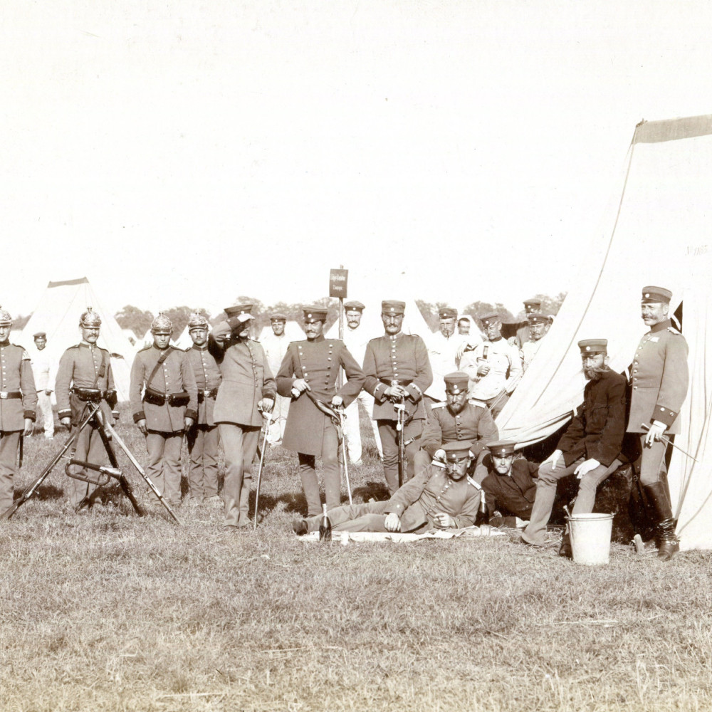
[[[646,332],[645,285],[673,290],[683,303],[691,382],[681,409],[669,485],[681,547],[712,548],[712,115],[642,122],[622,188],[600,239],[572,282],[537,357],[497,419],[501,437],[531,443],[553,433],[582,400],[577,341],[604,337],[610,366],[622,372]]]

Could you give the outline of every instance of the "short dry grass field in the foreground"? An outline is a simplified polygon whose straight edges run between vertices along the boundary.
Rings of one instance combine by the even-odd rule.
[[[127,414],[117,431],[145,462]],[[61,445],[27,439],[16,488]],[[368,442],[368,441],[367,441]],[[358,498],[383,496],[367,444]],[[3,712],[662,711],[712,708],[712,555],[614,545],[582,567],[511,536],[303,543],[296,459],[268,452],[256,533],[182,526],[120,461],[147,516],[70,511],[58,467],[0,523]]]

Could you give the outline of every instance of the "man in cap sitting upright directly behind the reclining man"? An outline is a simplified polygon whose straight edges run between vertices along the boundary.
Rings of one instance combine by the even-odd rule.
[[[421,450],[415,455],[415,471],[444,458],[443,446],[455,440],[468,440],[476,459],[484,444],[499,437],[488,407],[478,401],[467,401],[469,377],[466,373],[449,373],[445,381],[445,403],[434,405],[426,421],[420,441]]]

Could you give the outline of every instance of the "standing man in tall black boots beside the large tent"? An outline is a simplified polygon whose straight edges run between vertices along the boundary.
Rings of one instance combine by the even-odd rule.
[[[678,414],[687,395],[689,368],[685,337],[668,318],[672,292],[645,287],[641,316],[650,329],[635,352],[627,432],[639,435],[642,454],[636,463],[640,483],[654,511],[658,557],[669,560],[680,550],[665,478],[666,444],[660,437],[680,432]],[[644,428],[646,426],[646,428]]]

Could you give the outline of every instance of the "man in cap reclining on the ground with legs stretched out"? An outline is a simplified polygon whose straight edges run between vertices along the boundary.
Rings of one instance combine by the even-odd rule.
[[[407,481],[385,502],[336,507],[329,511],[333,531],[423,532],[461,529],[475,523],[480,487],[468,476],[471,443],[446,444],[446,463],[433,463]],[[295,534],[318,531],[321,515],[296,520]]]

